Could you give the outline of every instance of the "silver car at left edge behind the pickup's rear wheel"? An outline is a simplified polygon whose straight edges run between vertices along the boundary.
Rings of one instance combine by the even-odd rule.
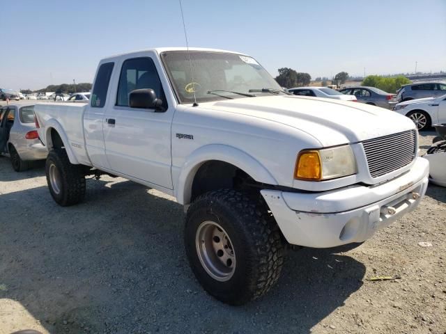
[[[36,131],[33,104],[0,108],[0,155],[5,153],[16,172],[28,169],[31,161],[47,158]]]

